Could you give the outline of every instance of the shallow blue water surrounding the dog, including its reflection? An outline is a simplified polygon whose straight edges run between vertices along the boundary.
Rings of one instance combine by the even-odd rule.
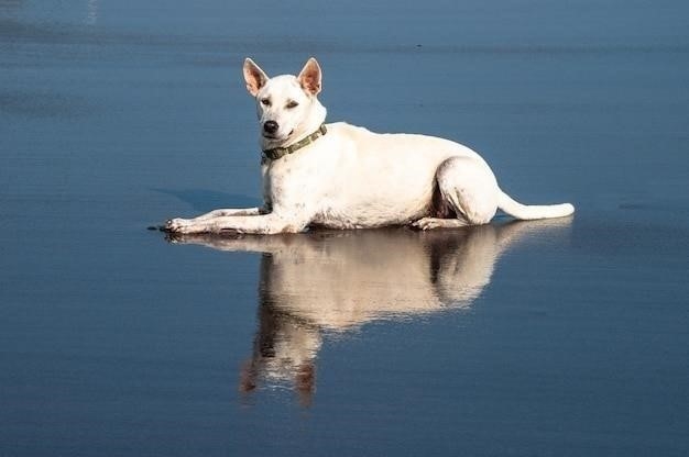
[[[0,1],[0,455],[687,455],[689,9],[507,3]],[[578,212],[168,243],[248,55]]]

